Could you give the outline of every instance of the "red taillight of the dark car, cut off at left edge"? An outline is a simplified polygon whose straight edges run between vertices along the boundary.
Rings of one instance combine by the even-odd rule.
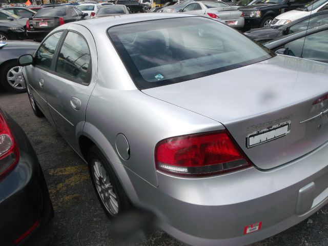
[[[18,146],[5,117],[0,113],[0,179],[8,174],[19,159]]]

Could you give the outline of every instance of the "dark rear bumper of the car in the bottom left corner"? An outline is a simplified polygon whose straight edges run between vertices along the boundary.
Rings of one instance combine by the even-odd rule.
[[[0,181],[0,238],[2,245],[13,241],[33,224],[37,227],[18,245],[24,244],[52,213],[46,181],[34,150],[24,132],[10,122],[19,146],[17,166]]]

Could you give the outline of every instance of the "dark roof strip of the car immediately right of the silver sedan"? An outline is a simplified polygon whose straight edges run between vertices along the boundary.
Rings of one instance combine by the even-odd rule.
[[[281,38],[277,38],[274,39],[268,43],[263,44],[265,47],[267,47],[268,49],[274,49],[280,45],[283,45],[285,43],[291,42],[293,40],[296,40],[298,38],[304,37],[305,35],[310,35],[316,32],[321,32],[324,30],[328,30],[328,24],[324,24],[318,27],[313,27],[313,28],[309,28],[307,30],[304,31],[300,31],[300,32],[295,32],[295,33],[291,33],[289,35],[283,36]]]

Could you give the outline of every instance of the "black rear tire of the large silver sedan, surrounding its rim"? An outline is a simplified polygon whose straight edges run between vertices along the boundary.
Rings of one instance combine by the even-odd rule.
[[[96,164],[95,161],[98,161],[98,164]],[[103,200],[105,198],[100,197],[100,191],[98,191],[98,189],[97,189],[96,172],[94,171],[95,170],[94,165],[99,165],[99,163],[101,164],[101,167],[103,167],[106,170],[107,179],[109,178],[109,181],[110,181],[109,184],[112,186],[112,191],[116,195],[116,201],[118,203],[118,206],[117,206],[118,211],[116,213],[115,213],[115,211],[111,212],[111,210],[109,208],[110,202],[107,202],[108,204],[106,205]],[[96,146],[91,147],[88,152],[88,164],[89,164],[89,172],[90,172],[93,188],[97,194],[97,197],[99,199],[101,207],[103,207],[107,217],[110,220],[113,220],[113,219],[117,218],[117,216],[122,214],[122,212],[130,209],[132,206],[131,206],[131,203],[129,201],[129,198],[128,198],[126,192],[122,188],[113,168],[111,167],[110,163],[107,161],[107,158],[103,155],[103,153],[101,153],[101,151]],[[101,181],[98,181],[98,183],[99,182],[101,183]],[[100,187],[99,187],[99,189],[100,189]],[[110,200],[109,192],[107,194],[108,194],[107,200]],[[103,193],[103,195],[104,195],[104,193]],[[105,197],[105,195],[104,195],[104,197]]]

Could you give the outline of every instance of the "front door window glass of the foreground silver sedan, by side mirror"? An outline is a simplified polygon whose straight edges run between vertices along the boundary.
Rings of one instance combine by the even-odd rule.
[[[45,69],[51,69],[51,62],[55,49],[63,32],[56,32],[49,36],[47,40],[40,46],[35,57],[35,65]]]

